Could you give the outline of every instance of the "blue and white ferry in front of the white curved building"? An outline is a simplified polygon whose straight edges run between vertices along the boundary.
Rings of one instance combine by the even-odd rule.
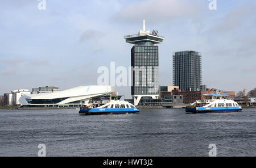
[[[100,114],[131,114],[138,113],[139,110],[131,103],[123,100],[114,100],[100,107],[80,107],[79,114],[100,115]]]

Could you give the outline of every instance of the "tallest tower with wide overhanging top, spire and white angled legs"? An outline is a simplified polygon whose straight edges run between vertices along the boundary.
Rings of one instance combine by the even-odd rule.
[[[163,36],[158,36],[158,31],[145,31],[145,20],[143,20],[143,30],[136,35],[125,36],[126,43],[134,44],[131,48],[131,66],[133,72],[133,86],[131,95],[134,98],[135,106],[142,97],[158,98],[159,79],[158,46],[163,43]]]

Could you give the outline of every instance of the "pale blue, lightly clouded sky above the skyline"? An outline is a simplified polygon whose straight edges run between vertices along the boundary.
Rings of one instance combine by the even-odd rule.
[[[217,0],[0,1],[0,95],[11,90],[97,85],[100,66],[130,66],[123,36],[158,30],[159,83],[172,85],[172,53],[202,54],[202,84],[256,87],[256,2]],[[130,98],[130,87],[117,87]]]

